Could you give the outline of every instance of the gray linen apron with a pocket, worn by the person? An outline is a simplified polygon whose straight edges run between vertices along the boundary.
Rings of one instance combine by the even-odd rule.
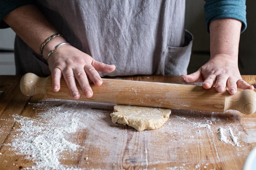
[[[184,29],[185,0],[37,0],[74,47],[115,64],[117,75],[187,74],[192,35]],[[17,74],[49,75],[47,62],[16,37]]]

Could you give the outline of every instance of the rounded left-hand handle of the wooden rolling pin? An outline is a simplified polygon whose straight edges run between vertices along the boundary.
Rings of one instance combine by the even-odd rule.
[[[21,78],[20,90],[26,96],[46,94],[47,79],[38,77],[33,73],[27,73]]]

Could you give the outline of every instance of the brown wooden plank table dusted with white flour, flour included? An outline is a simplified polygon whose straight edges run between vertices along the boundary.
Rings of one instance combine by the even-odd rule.
[[[0,76],[1,170],[240,170],[256,145],[256,114],[173,109],[161,128],[137,132],[111,122],[114,104],[27,97],[20,78]],[[123,79],[181,83],[176,76]],[[256,76],[243,79],[255,85]]]

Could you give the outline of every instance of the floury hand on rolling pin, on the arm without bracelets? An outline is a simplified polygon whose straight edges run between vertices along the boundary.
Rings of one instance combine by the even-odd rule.
[[[224,54],[211,57],[196,72],[182,75],[182,79],[185,83],[203,82],[204,89],[210,89],[215,85],[218,92],[223,92],[225,87],[228,87],[228,92],[231,95],[236,94],[237,88],[254,90],[254,86],[242,80],[238,62],[231,56]]]

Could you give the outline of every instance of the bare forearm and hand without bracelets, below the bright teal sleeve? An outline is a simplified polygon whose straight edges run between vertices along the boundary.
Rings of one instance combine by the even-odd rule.
[[[242,80],[238,68],[238,47],[241,22],[236,19],[216,19],[210,23],[210,60],[190,75],[182,75],[185,83],[202,81],[202,86],[209,89],[215,86],[218,92],[228,87],[234,95],[237,88],[254,87]]]

